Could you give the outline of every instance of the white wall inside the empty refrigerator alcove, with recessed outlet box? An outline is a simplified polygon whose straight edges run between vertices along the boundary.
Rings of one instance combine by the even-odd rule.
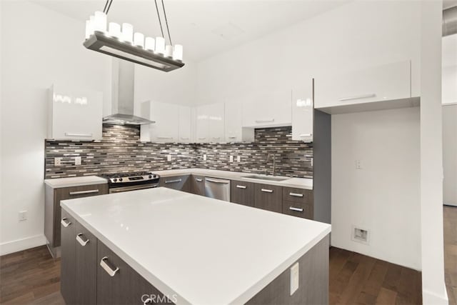
[[[418,107],[331,117],[333,246],[421,269],[419,125]]]

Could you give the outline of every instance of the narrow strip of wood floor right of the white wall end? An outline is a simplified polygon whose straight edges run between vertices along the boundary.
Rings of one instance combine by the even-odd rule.
[[[457,305],[457,206],[444,206],[444,279],[449,304]]]

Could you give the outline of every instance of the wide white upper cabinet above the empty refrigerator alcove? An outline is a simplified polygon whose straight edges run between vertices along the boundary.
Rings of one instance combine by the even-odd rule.
[[[314,90],[316,109],[407,99],[411,97],[411,61],[316,78]]]

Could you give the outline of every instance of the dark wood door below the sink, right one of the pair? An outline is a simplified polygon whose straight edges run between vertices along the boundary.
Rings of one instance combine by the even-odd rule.
[[[281,213],[283,210],[282,186],[256,184],[254,190],[254,206],[258,209]]]

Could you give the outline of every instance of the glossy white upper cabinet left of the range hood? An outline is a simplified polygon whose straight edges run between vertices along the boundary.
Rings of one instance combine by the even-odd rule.
[[[54,84],[49,89],[48,139],[100,140],[103,94]]]

